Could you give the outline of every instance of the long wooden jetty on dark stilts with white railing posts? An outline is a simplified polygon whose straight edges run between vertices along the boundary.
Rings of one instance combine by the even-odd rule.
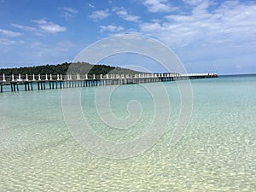
[[[74,87],[90,87],[112,84],[144,84],[153,82],[176,81],[185,79],[217,78],[216,73],[138,73],[138,74],[106,74],[106,75],[80,75],[80,74],[45,74],[45,75],[0,75],[0,91],[4,86],[10,86],[10,91],[24,90],[50,90]]]

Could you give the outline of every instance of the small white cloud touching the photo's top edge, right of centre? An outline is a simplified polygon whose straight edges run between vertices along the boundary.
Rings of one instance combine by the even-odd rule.
[[[169,12],[177,8],[172,7],[167,0],[145,0],[143,3],[149,12]]]

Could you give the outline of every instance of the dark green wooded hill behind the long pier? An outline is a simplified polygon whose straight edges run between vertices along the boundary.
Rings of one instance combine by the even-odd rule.
[[[58,65],[44,65],[35,67],[19,67],[19,68],[3,68],[0,69],[0,74],[12,75],[12,74],[107,74],[107,73],[119,73],[119,74],[135,74],[138,73],[131,69],[121,67],[111,67],[107,65],[91,65],[87,62],[73,62],[73,63],[62,63]]]

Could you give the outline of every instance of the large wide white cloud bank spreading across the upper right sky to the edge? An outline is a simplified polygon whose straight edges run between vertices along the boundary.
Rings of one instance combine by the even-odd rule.
[[[140,32],[177,46],[236,44],[255,39],[256,3],[226,2],[210,12],[209,1],[188,2],[190,15],[166,15],[167,20],[142,23]]]

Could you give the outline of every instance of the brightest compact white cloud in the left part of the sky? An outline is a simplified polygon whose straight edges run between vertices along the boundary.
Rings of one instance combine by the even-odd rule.
[[[45,32],[56,33],[56,32],[65,32],[67,29],[64,26],[55,24],[54,22],[47,20],[33,20],[33,22],[38,24],[38,27]]]

